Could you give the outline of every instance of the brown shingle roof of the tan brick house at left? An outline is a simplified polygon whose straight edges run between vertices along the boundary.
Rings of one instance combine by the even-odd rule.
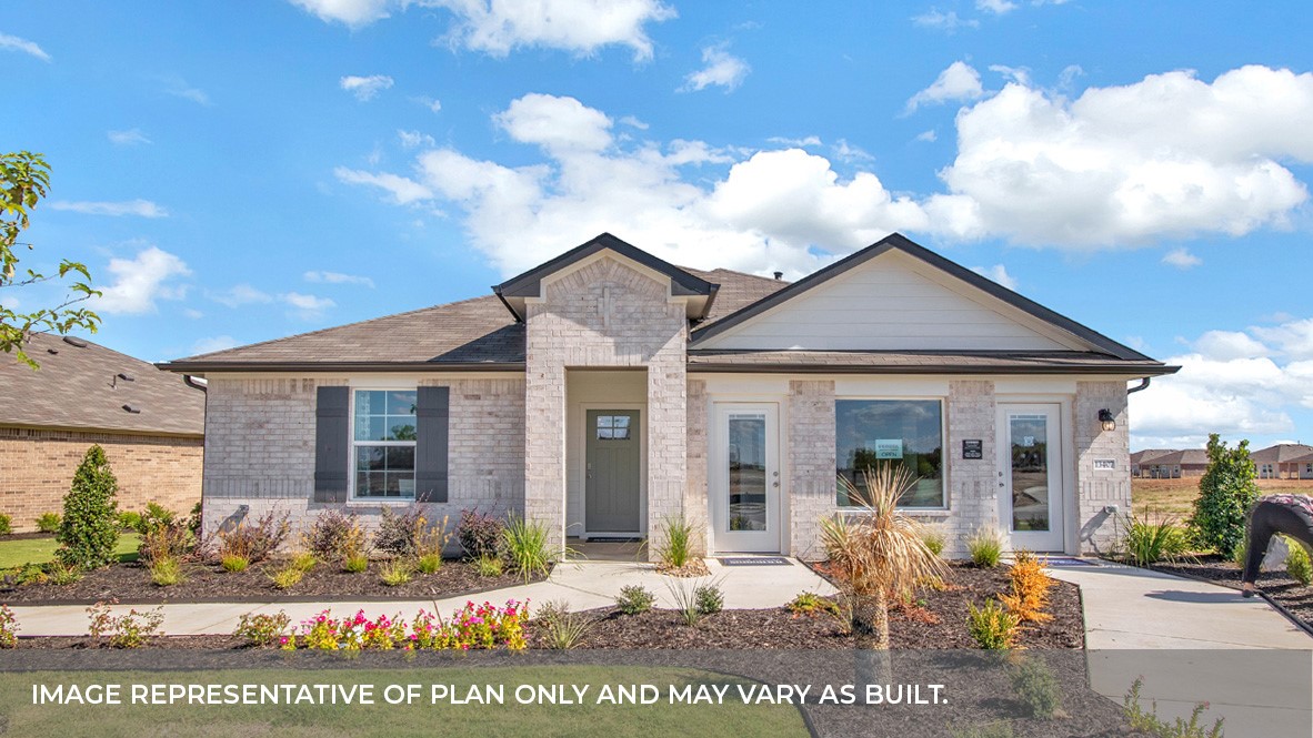
[[[0,425],[202,435],[205,393],[183,378],[81,338],[32,336],[39,370],[0,354]]]

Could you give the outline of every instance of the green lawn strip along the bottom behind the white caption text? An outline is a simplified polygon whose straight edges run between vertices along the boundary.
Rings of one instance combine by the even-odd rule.
[[[393,737],[431,735],[433,726],[452,734],[507,735],[541,738],[545,734],[574,738],[609,738],[633,734],[635,726],[650,735],[676,735],[696,726],[699,738],[731,738],[737,735],[807,735],[798,710],[789,705],[744,705],[727,700],[722,705],[668,704],[651,705],[583,704],[517,704],[519,684],[590,684],[590,696],[603,686],[655,684],[663,696],[670,686],[742,682],[693,669],[607,667],[607,666],[517,666],[481,669],[453,666],[442,669],[378,670],[352,669],[303,671],[295,669],[226,670],[169,672],[77,672],[80,684],[123,684],[125,704],[104,705],[33,705],[33,684],[60,684],[70,672],[34,671],[0,674],[0,714],[8,717],[7,735],[83,735],[95,726],[96,735],[272,735],[309,738],[312,735]],[[127,684],[167,680],[194,684],[373,684],[373,705],[225,705],[163,707],[126,704]],[[390,705],[382,699],[389,684],[423,686],[415,704]],[[429,703],[429,684],[448,684],[454,693],[466,696],[470,687],[504,686],[506,704]]]

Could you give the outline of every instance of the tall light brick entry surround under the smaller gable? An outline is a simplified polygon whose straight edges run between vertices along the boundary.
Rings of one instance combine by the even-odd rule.
[[[684,510],[688,464],[688,321],[658,281],[603,257],[544,286],[528,304],[525,338],[525,514],[565,541],[566,367],[647,368],[647,530]]]

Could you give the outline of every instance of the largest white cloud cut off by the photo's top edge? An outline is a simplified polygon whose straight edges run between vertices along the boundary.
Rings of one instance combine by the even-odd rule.
[[[676,16],[659,0],[427,0],[456,16],[453,46],[506,56],[521,47],[559,49],[590,55],[605,46],[628,46],[634,60],[651,59],[645,26]]]

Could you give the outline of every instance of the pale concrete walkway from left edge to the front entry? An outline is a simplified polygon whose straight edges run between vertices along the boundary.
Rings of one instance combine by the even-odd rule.
[[[725,594],[725,607],[733,610],[756,610],[783,607],[798,592],[810,591],[822,595],[834,594],[834,587],[818,577],[810,568],[797,560],[788,560],[786,566],[722,566],[714,558],[706,560],[709,577],[678,579],[658,574],[650,564],[624,561],[580,561],[566,562],[555,568],[542,582],[494,590],[478,595],[453,596],[440,600],[389,600],[389,602],[268,602],[268,603],[197,603],[165,604],[164,633],[169,636],[230,634],[238,621],[247,613],[274,613],[280,610],[291,617],[293,624],[332,610],[334,615],[353,615],[364,610],[365,615],[400,613],[407,620],[420,610],[436,612],[444,617],[460,610],[466,602],[484,600],[503,604],[507,600],[541,606],[561,600],[570,610],[592,610],[616,603],[621,587],[642,585],[656,595],[656,607],[674,608],[675,591],[679,587],[692,589],[697,585],[714,582]],[[154,606],[137,606],[137,610],[151,610]],[[532,607],[532,606],[530,606]],[[116,613],[126,612],[130,604],[114,608]],[[12,606],[18,620],[20,636],[85,636],[87,606]]]

